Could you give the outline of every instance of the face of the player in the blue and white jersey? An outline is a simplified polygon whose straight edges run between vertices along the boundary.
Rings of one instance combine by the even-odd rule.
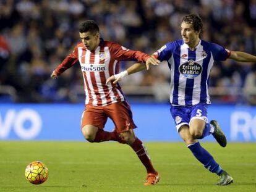
[[[198,42],[199,31],[195,31],[193,25],[190,23],[182,22],[181,23],[181,36],[184,43],[189,45],[194,45]]]

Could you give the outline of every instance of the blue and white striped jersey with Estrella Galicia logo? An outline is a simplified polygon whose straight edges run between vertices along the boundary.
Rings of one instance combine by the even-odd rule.
[[[214,61],[224,61],[230,55],[222,46],[200,40],[194,51],[183,40],[165,44],[154,53],[167,61],[171,70],[170,102],[173,105],[210,104],[208,78]]]

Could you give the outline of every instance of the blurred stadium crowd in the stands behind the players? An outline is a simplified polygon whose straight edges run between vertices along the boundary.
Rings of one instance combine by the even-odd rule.
[[[203,19],[202,39],[256,54],[256,0],[0,0],[0,101],[84,101],[79,65],[49,78],[80,41],[83,20],[95,20],[105,40],[152,54],[181,38],[181,19],[190,13]],[[121,84],[135,99],[168,102],[169,75],[168,66],[151,67]],[[216,102],[255,104],[256,66],[215,62],[210,86]]]

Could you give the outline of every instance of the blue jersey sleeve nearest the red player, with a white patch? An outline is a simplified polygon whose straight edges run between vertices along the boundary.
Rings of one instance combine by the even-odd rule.
[[[153,56],[160,61],[168,61],[173,55],[174,43],[164,44],[160,49],[153,53]]]

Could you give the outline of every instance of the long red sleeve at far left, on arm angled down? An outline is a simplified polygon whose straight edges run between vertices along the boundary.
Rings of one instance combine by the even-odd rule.
[[[63,61],[59,66],[54,70],[57,75],[60,75],[63,73],[65,70],[69,69],[72,67],[76,62],[78,58],[78,49],[77,46],[75,46],[74,51],[72,51]]]

